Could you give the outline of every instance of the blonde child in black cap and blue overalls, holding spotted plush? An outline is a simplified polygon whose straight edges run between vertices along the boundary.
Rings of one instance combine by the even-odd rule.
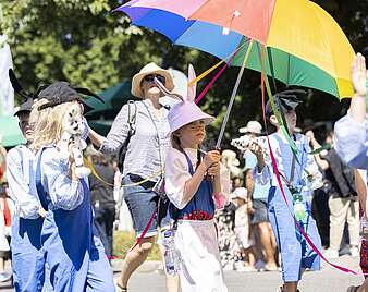
[[[58,292],[115,291],[94,227],[87,179],[77,172],[82,166],[75,160],[75,142],[69,141],[69,156],[62,153],[65,119],[78,105],[82,120],[82,99],[65,82],[49,85],[38,97],[30,120],[37,117],[33,146],[38,153],[34,167],[37,194],[47,210],[40,238],[51,285]],[[82,126],[81,121],[74,125]]]

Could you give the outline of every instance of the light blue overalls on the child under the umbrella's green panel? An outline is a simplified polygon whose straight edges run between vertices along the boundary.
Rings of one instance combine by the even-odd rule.
[[[293,154],[290,146],[283,143],[279,136],[274,135],[280,145],[282,161],[289,163]],[[306,150],[304,145],[302,149],[298,149],[298,162],[295,163],[295,169],[299,168],[300,171],[305,168]],[[289,175],[289,173],[287,173]],[[298,180],[298,178],[295,178]],[[295,180],[294,180],[295,182]],[[291,210],[293,211],[293,195],[289,191],[287,186],[283,184],[283,190]],[[306,222],[299,222],[305,233],[308,234],[310,240],[321,250],[321,240],[317,230],[316,221],[311,217],[310,204],[304,203],[307,209]],[[281,190],[279,186],[271,186],[268,196],[268,209],[269,219],[272,226],[273,233],[281,253],[282,259],[282,278],[284,282],[295,282],[300,280],[303,269],[318,270],[320,268],[320,257],[309,246],[306,240],[300,234],[300,231],[296,227],[292,215],[290,214],[286,204],[283,199]]]

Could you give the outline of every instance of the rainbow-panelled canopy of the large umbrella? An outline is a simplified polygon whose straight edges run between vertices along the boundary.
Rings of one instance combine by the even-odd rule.
[[[220,59],[238,49],[235,65],[254,39],[267,49],[269,76],[339,98],[353,95],[354,50],[335,21],[308,0],[133,0],[116,11],[175,45]],[[261,71],[258,48],[253,46],[246,68]]]

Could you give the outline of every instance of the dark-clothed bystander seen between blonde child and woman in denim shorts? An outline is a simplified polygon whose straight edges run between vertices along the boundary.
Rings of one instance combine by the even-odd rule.
[[[115,220],[115,200],[113,197],[114,170],[112,165],[93,145],[87,148],[95,171],[88,177],[90,204],[95,211],[95,226],[100,235],[106,255],[112,257],[112,233]],[[97,177],[98,175],[98,177]]]

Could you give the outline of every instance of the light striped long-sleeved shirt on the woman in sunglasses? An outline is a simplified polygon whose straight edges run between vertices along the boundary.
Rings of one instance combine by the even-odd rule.
[[[170,125],[168,110],[160,109],[161,119],[155,114],[149,99],[135,101],[135,134],[127,145],[123,165],[123,175],[137,174],[150,178],[164,166],[164,158],[170,145]],[[111,130],[100,147],[105,154],[116,154],[127,138],[128,106],[124,105],[112,123]],[[151,179],[156,181],[157,178]]]

